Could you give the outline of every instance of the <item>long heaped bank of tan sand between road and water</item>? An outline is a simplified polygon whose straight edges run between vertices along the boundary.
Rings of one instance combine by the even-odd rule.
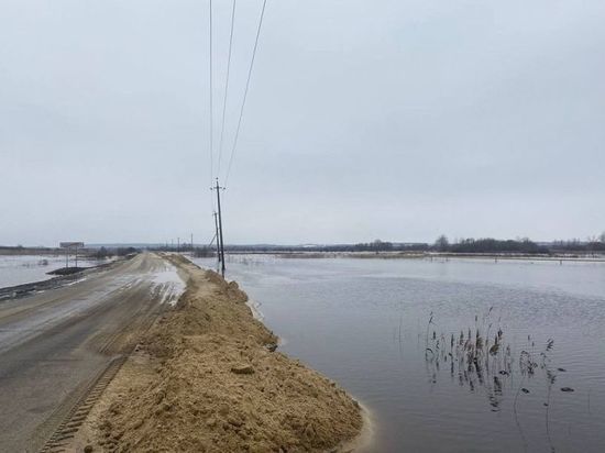
[[[279,352],[237,284],[170,258],[187,281],[91,410],[82,451],[338,451],[362,429],[359,404]]]

